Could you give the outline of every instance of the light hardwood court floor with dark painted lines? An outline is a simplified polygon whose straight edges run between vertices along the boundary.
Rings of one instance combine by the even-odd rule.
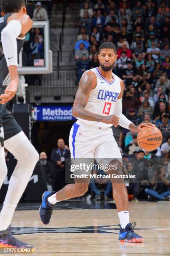
[[[54,210],[49,225],[41,223],[38,210],[18,210],[12,227],[17,238],[35,246],[32,255],[170,255],[170,202],[130,202],[129,210],[144,243],[118,242],[116,209]]]

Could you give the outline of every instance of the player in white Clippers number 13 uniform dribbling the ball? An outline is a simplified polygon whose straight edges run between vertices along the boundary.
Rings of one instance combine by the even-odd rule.
[[[120,150],[113,137],[112,125],[138,132],[143,126],[154,126],[151,123],[134,125],[122,114],[123,82],[112,73],[117,59],[114,44],[105,42],[99,47],[100,67],[90,69],[80,79],[75,96],[72,114],[78,120],[70,131],[69,146],[72,159],[109,159],[110,164],[118,162],[117,170],[122,170]],[[114,160],[117,159],[117,160]],[[110,173],[115,173],[111,170]],[[109,174],[109,172],[107,172]],[[111,179],[112,183],[113,180]],[[79,197],[85,194],[88,182],[68,184],[57,193],[46,191],[42,196],[39,214],[42,223],[48,224],[52,207],[62,200]],[[124,242],[143,242],[143,237],[134,231],[134,224],[129,223],[128,195],[123,181],[112,184],[113,198],[116,202],[120,219],[119,240]]]

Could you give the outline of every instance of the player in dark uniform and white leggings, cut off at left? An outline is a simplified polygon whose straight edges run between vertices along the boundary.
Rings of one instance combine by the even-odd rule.
[[[15,208],[32,175],[38,161],[38,153],[22,129],[7,111],[4,104],[11,100],[18,87],[18,55],[23,47],[25,34],[32,28],[32,20],[26,15],[25,0],[1,0],[0,18],[0,187],[7,175],[4,146],[18,160],[10,178],[5,201],[0,213],[0,247],[33,248],[14,238],[10,223]],[[2,92],[2,83],[10,74],[10,84]],[[3,126],[3,127],[2,127]],[[4,130],[4,133],[3,133]]]

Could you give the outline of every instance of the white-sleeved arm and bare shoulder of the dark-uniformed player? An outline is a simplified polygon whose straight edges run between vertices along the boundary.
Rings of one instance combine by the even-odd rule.
[[[2,30],[1,41],[10,74],[10,84],[5,90],[5,94],[0,95],[0,103],[5,104],[11,100],[18,88],[18,50],[17,38],[25,38],[25,34],[32,28],[32,20],[23,13],[14,13],[7,20],[7,26]]]

